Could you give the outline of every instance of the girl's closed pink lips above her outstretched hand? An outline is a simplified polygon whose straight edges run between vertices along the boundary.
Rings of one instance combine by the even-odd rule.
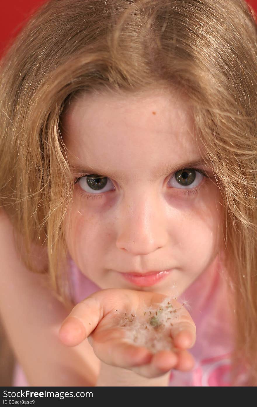
[[[125,280],[130,281],[138,287],[151,287],[166,278],[171,270],[150,271],[149,273],[119,273]]]

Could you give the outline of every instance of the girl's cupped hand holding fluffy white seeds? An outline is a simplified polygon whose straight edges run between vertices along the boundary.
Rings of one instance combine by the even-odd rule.
[[[67,346],[76,346],[88,337],[102,362],[147,378],[162,376],[171,369],[191,370],[194,360],[187,349],[194,345],[196,326],[183,305],[168,300],[162,294],[145,291],[97,291],[73,308],[60,327],[59,338]],[[148,339],[143,345],[142,340],[141,344],[140,340],[133,341],[147,335],[149,343],[152,335],[161,343],[166,335],[167,346],[154,351]]]

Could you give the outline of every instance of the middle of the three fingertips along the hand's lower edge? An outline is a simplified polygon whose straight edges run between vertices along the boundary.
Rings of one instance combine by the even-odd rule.
[[[131,370],[140,374],[140,376],[151,379],[167,374],[171,369],[175,368],[178,363],[179,358],[177,354],[162,350],[153,355],[152,360],[148,365],[133,367]]]

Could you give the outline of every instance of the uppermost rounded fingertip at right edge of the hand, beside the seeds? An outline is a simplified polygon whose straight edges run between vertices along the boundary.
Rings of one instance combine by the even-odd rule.
[[[196,326],[193,322],[182,321],[171,328],[174,345],[179,349],[192,348],[196,340]]]

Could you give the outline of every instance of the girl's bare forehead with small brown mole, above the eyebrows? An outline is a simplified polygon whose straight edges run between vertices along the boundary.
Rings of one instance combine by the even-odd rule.
[[[119,163],[138,170],[199,158],[190,103],[184,94],[84,94],[66,111],[64,142],[73,164]],[[122,171],[122,169],[121,169]]]

